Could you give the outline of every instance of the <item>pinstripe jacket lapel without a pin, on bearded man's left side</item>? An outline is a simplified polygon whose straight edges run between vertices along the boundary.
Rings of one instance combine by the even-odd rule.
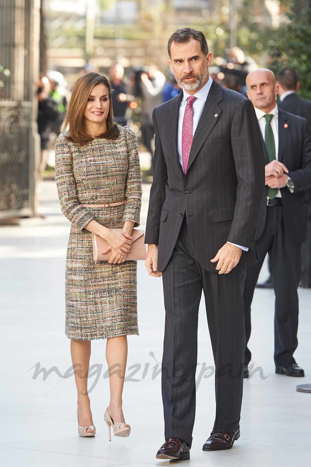
[[[178,155],[178,145],[177,145],[177,136],[178,136],[178,120],[179,120],[179,108],[180,102],[183,97],[183,92],[180,92],[178,96],[172,99],[169,112],[167,116],[165,115],[165,125],[166,125],[166,136],[167,144],[169,148],[169,153],[172,157],[172,162],[175,167],[175,170],[181,179],[185,178],[184,171],[181,168]]]

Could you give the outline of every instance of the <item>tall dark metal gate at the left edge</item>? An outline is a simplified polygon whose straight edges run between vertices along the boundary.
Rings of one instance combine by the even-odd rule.
[[[40,0],[0,0],[0,219],[34,215]]]

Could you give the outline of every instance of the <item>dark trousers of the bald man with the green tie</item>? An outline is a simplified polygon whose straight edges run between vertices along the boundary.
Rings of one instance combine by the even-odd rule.
[[[299,228],[297,226],[297,228]],[[245,313],[245,365],[251,360],[247,347],[250,331],[250,307],[263,260],[268,253],[276,295],[274,315],[274,361],[277,367],[296,363],[298,294],[301,272],[301,243],[292,243],[282,206],[267,206],[267,218],[262,235],[256,240],[258,262],[248,266],[243,300]]]

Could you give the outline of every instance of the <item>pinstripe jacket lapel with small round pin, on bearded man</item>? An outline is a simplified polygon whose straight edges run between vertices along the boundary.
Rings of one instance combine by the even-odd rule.
[[[205,105],[203,107],[198,126],[194,133],[194,139],[189,154],[187,171],[190,165],[194,162],[195,157],[198,155],[204,141],[210,134],[214,125],[216,124],[221,114],[221,108],[218,103],[223,99],[221,86],[213,81],[211,88],[208,92]],[[186,172],[187,174],[187,172]]]

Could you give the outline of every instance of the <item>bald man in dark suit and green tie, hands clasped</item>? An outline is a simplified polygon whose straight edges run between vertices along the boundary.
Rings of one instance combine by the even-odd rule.
[[[304,376],[293,354],[297,348],[298,295],[301,244],[307,232],[307,198],[311,187],[311,132],[305,119],[278,109],[278,86],[272,71],[260,69],[247,77],[249,99],[256,110],[265,157],[266,189],[257,224],[258,262],[247,268],[243,299],[245,311],[245,367],[250,307],[263,260],[268,253],[276,294],[276,373]]]

